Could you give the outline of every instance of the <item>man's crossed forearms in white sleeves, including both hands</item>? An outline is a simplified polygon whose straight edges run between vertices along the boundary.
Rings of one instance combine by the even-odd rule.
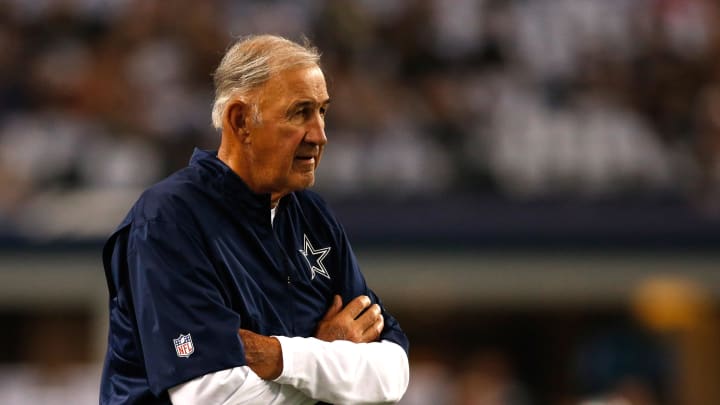
[[[312,338],[239,335],[247,366],[206,374],[169,390],[174,404],[343,404],[397,402],[409,367],[399,345],[378,338],[380,307],[367,296],[343,308],[340,296]]]

